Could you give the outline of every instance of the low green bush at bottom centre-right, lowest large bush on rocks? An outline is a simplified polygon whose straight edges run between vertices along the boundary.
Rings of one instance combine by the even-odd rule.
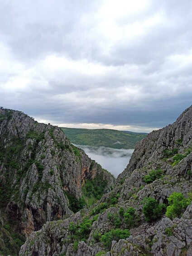
[[[130,237],[130,231],[128,229],[111,229],[110,232],[106,232],[101,236],[101,242],[103,242],[106,247],[110,248],[113,240],[119,241],[120,239],[126,239],[128,237]]]

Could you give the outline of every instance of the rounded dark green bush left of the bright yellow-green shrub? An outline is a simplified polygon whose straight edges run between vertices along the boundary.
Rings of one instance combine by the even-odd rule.
[[[142,204],[142,213],[144,213],[147,222],[154,221],[161,217],[166,210],[166,205],[164,203],[159,204],[154,198],[144,198]]]

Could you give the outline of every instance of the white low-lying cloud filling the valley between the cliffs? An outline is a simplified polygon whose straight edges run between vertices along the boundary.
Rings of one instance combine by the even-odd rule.
[[[75,146],[84,150],[91,159],[96,160],[104,169],[112,173],[115,178],[125,169],[134,151],[134,149],[112,149],[89,145]]]

